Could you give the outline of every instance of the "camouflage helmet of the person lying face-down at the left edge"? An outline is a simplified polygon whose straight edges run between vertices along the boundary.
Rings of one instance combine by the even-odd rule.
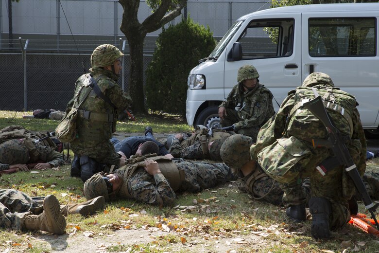
[[[25,164],[30,159],[29,150],[21,140],[9,140],[0,145],[0,163]]]

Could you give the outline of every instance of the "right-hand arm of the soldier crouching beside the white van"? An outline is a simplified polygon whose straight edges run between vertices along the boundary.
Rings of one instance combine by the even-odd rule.
[[[259,96],[256,102],[253,115],[248,119],[236,123],[236,130],[243,127],[255,127],[263,124],[263,121],[267,118],[266,115],[270,106],[273,107],[272,96],[270,92],[264,92]]]

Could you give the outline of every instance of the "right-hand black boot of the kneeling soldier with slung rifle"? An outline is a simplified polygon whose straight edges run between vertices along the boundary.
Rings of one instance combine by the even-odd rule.
[[[312,236],[316,239],[330,238],[330,202],[325,198],[311,198],[309,200],[309,210],[312,214],[312,225],[310,227]]]

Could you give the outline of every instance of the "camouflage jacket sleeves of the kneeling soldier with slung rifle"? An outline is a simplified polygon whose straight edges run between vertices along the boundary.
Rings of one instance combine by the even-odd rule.
[[[317,88],[317,86],[315,86],[315,88]],[[276,142],[277,139],[280,139],[282,137],[284,138],[291,137],[291,134],[287,132],[287,127],[288,127],[288,122],[291,121],[291,119],[288,118],[289,113],[291,112],[292,108],[296,104],[294,98],[295,98],[295,90],[291,90],[288,93],[288,96],[284,99],[283,103],[281,104],[275,117],[272,117],[263,127],[261,127],[258,133],[257,143],[252,145],[250,148],[250,156],[252,158],[257,159],[258,153],[264,147],[272,145],[274,142]],[[357,108],[353,109],[353,112],[351,113],[351,119],[353,123],[351,140],[357,140],[359,142],[360,140],[365,140],[362,123],[360,120],[360,114]],[[310,131],[310,134],[309,134],[310,138],[313,132],[317,131],[317,129],[306,129],[306,130]],[[303,129],[303,132],[306,130]],[[325,128],[323,128],[321,131],[325,131],[326,133]],[[365,159],[366,159],[367,144],[365,141],[360,142],[360,143],[362,145],[361,153],[358,154],[358,157],[355,157],[355,158],[353,157],[353,160],[357,165],[358,171],[361,173],[361,175],[363,175],[366,168]],[[309,146],[311,146],[311,144],[309,144]],[[347,147],[349,148],[349,145]],[[328,154],[330,154],[329,151],[327,151],[327,154],[325,154],[325,156],[327,157]]]

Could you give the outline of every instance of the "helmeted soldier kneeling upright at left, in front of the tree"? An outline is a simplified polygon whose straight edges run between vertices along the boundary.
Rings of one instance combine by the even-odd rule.
[[[118,111],[128,108],[132,102],[117,84],[122,69],[121,56],[120,50],[109,44],[98,46],[91,55],[89,74],[111,103],[95,93],[87,81],[89,74],[84,74],[76,81],[74,97],[67,105],[71,108],[81,103],[76,123],[77,136],[70,145],[75,154],[71,176],[81,176],[83,181],[96,172],[109,171],[112,165],[116,168],[120,165],[121,156],[115,152],[109,139],[116,131]],[[87,89],[92,89],[88,96]]]

